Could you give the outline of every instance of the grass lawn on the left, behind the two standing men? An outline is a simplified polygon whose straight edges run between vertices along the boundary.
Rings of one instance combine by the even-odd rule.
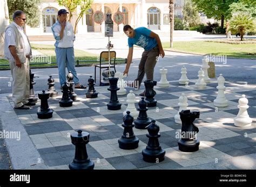
[[[50,62],[56,62],[56,54],[55,54],[55,47],[52,45],[39,45],[39,44],[31,44],[32,49],[43,53],[44,55],[50,56]],[[119,58],[117,58],[119,59]],[[75,49],[75,60],[81,61],[91,61],[91,60],[99,60],[99,54],[92,54],[88,53],[79,49]],[[46,61],[49,62],[49,61]],[[36,63],[36,62],[30,62]],[[82,62],[79,64],[91,64],[97,62]],[[118,62],[116,62],[118,64]],[[9,61],[0,59],[0,64],[7,64],[9,65]],[[30,64],[30,67],[46,67],[46,66],[57,66],[56,63],[47,63],[47,64]],[[9,66],[1,66],[0,68],[9,68]]]

